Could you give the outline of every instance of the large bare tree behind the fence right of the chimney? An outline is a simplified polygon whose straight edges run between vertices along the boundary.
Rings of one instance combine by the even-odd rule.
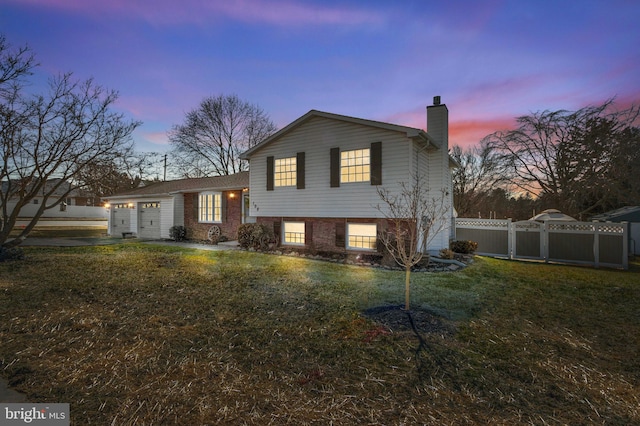
[[[493,133],[486,140],[498,154],[500,173],[520,191],[538,194],[567,213],[587,213],[604,205],[603,194],[585,194],[587,188],[623,184],[604,171],[624,163],[624,156],[613,161],[610,153],[624,151],[619,149],[619,142],[629,140],[624,135],[637,134],[630,129],[639,111],[633,106],[615,111],[608,100],[577,111],[536,112],[518,117],[517,129]]]

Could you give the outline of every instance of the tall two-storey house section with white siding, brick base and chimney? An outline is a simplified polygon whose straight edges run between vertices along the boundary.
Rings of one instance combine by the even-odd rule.
[[[250,162],[250,215],[281,245],[310,251],[379,252],[385,226],[377,189],[416,177],[447,197],[453,218],[448,109],[434,98],[424,130],[311,110],[242,154]],[[430,251],[449,247],[452,221]]]

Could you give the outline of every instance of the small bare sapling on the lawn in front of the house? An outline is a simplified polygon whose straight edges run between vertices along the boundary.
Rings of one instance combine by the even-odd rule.
[[[396,263],[405,269],[405,309],[410,309],[411,268],[427,254],[433,238],[446,229],[451,220],[451,205],[446,189],[431,195],[416,177],[412,184],[400,183],[399,192],[379,187],[382,204],[377,205],[387,226],[378,238]]]

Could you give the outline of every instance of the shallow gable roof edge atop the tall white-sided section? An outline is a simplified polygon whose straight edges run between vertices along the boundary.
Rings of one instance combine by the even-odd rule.
[[[425,144],[435,146],[436,148],[440,148],[438,143],[436,143],[433,140],[433,138],[429,136],[427,132],[425,132],[422,129],[416,129],[414,127],[407,127],[407,126],[400,126],[397,124],[384,123],[382,121],[366,120],[364,118],[349,117],[347,115],[333,114],[330,112],[324,112],[324,111],[318,111],[318,110],[312,109],[302,117],[293,121],[288,126],[283,127],[282,129],[280,129],[279,131],[277,131],[267,139],[263,140],[259,144],[255,145],[254,147],[240,154],[240,158],[242,158],[243,160],[248,160],[256,151],[261,150],[265,146],[272,143],[274,140],[277,140],[283,135],[300,127],[302,124],[306,123],[307,121],[311,120],[314,117],[328,118],[331,120],[339,120],[347,123],[360,124],[363,126],[370,126],[370,127],[376,127],[379,129],[390,130],[393,132],[405,133],[408,138],[411,138],[411,139],[417,138],[423,141]]]

